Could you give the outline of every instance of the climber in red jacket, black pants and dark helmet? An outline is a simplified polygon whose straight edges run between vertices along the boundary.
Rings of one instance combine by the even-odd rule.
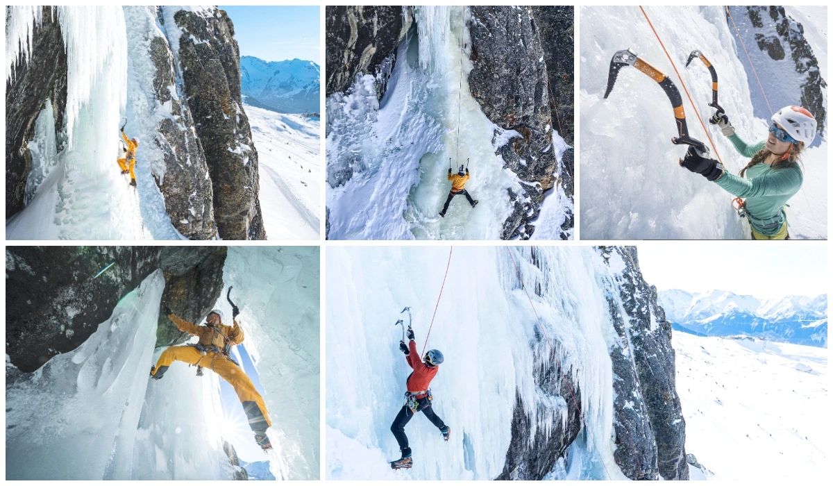
[[[397,413],[397,418],[393,419],[391,424],[391,432],[393,437],[397,438],[399,443],[399,450],[402,451],[402,458],[393,461],[391,468],[410,468],[412,466],[411,448],[408,447],[408,438],[405,435],[405,426],[411,420],[416,412],[425,414],[428,420],[431,420],[436,428],[440,429],[442,437],[448,441],[451,434],[451,428],[442,419],[436,416],[434,409],[431,408],[431,389],[428,385],[436,376],[436,372],[440,370],[442,363],[442,353],[436,349],[431,349],[425,353],[425,362],[419,358],[419,353],[416,352],[416,341],[414,341],[414,332],[411,328],[407,331],[408,343],[399,342],[399,348],[402,353],[405,353],[405,360],[408,366],[413,368],[413,371],[406,380],[407,392],[405,392],[405,404]]]

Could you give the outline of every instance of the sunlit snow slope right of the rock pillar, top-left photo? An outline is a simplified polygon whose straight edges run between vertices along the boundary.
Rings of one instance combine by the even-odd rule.
[[[321,122],[246,105],[257,144],[263,224],[271,239],[317,239]]]

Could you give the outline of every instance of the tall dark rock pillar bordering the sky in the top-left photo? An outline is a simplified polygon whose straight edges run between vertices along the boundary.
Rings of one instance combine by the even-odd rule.
[[[180,10],[182,89],[211,175],[214,218],[223,239],[265,239],[257,150],[242,108],[240,53],[234,27],[219,9]]]

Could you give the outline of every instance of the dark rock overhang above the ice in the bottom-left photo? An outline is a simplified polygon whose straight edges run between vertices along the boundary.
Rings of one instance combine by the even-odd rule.
[[[6,342],[10,362],[31,373],[81,345],[118,301],[157,268],[162,299],[199,322],[222,290],[224,247],[8,247]],[[157,345],[183,338],[160,316]]]

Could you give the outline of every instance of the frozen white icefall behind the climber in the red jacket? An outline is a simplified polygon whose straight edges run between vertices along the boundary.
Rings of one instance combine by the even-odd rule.
[[[631,347],[636,334],[623,339],[613,323],[628,314],[619,293],[625,269],[618,254],[606,263],[592,248],[465,247],[451,255],[438,247],[330,248],[327,478],[623,478],[612,435],[620,378],[609,353],[618,360],[624,346],[628,366],[640,353]],[[398,348],[402,329],[393,323],[403,318],[407,325],[405,306],[412,306],[417,349],[445,355],[431,388],[433,408],[452,433],[443,442],[417,414],[406,428],[414,467],[392,471],[387,461],[399,449],[390,426],[410,373]],[[624,325],[636,333],[631,321]],[[559,369],[570,370],[580,398],[551,392],[564,378]],[[622,393],[636,414],[641,392]],[[576,418],[576,399],[584,426],[577,438],[562,437]],[[553,460],[542,472],[526,468],[519,456],[551,454],[550,438],[556,450],[570,446],[566,461]],[[622,450],[639,441],[622,440]],[[656,448],[654,458],[656,471]]]

